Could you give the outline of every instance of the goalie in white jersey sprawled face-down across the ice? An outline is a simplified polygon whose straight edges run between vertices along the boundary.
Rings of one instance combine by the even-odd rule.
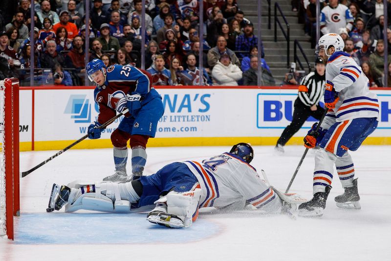
[[[253,149],[247,143],[202,162],[175,162],[155,174],[117,184],[79,182],[53,185],[47,212],[79,209],[104,212],[130,212],[145,206],[154,209],[147,219],[167,227],[189,227],[203,207],[223,208],[247,203],[265,213],[292,214],[305,200],[285,195],[261,179],[249,163]],[[263,176],[263,175],[262,175]],[[156,204],[156,205],[154,205]]]

